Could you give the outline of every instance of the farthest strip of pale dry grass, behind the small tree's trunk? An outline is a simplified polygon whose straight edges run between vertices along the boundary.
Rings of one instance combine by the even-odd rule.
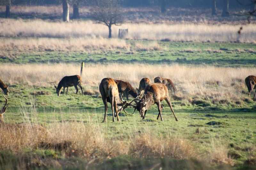
[[[43,20],[0,19],[2,37],[50,37],[50,38],[86,38],[108,37],[108,28],[92,21],[49,22]],[[117,38],[119,28],[128,28],[128,39],[171,41],[240,41],[255,42],[255,25],[243,26],[238,37],[239,26],[208,24],[132,24],[113,26],[112,35]],[[100,41],[98,41],[100,43]]]

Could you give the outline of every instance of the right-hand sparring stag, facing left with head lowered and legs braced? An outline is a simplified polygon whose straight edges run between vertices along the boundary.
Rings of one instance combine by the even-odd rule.
[[[139,101],[136,102],[136,100],[134,100],[136,102],[136,106],[132,105],[131,102],[127,103],[124,108],[128,107],[128,106],[132,106],[134,107],[134,111],[137,109],[140,112],[140,117],[142,117],[142,119],[145,119],[145,115],[149,109],[150,106],[152,106],[153,104],[156,104],[158,107],[158,116],[157,116],[157,120],[160,116],[161,121],[163,121],[163,117],[162,117],[162,105],[161,105],[161,101],[165,100],[169,107],[171,108],[171,111],[174,115],[174,118],[176,121],[178,121],[178,119],[176,118],[174,111],[172,109],[172,104],[171,104],[171,100],[169,97],[169,93],[168,93],[168,89],[167,87],[162,84],[162,83],[153,83],[151,85],[149,85],[147,87],[147,89],[145,90],[144,93],[144,97]]]

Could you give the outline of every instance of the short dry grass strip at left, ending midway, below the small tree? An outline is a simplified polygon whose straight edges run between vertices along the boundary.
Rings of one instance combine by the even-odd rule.
[[[0,51],[95,51],[130,49],[124,40],[105,38],[25,38],[25,39],[0,39]],[[0,53],[1,54],[1,53]]]

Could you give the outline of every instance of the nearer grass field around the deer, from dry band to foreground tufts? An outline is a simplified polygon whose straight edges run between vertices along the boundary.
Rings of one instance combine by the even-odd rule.
[[[243,78],[253,72],[250,67],[88,64],[85,95],[71,87],[68,95],[57,97],[53,85],[64,75],[78,74],[79,64],[2,64],[1,77],[10,85],[4,121],[11,126],[0,127],[2,168],[252,168],[255,102]],[[135,112],[112,122],[109,109],[107,123],[101,123],[102,78],[138,87],[140,78],[152,81],[157,75],[175,82],[178,91],[170,95],[178,122],[164,101],[163,122],[156,120],[153,106],[145,120]]]

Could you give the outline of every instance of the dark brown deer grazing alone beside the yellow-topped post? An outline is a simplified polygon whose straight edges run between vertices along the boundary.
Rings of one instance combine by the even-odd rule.
[[[68,87],[72,87],[75,86],[76,88],[76,94],[78,92],[78,88],[77,86],[80,87],[81,91],[82,91],[82,95],[83,95],[83,88],[81,86],[82,83],[82,78],[79,75],[74,75],[74,76],[65,76],[63,77],[59,84],[58,87],[56,87],[56,85],[54,85],[55,89],[56,89],[56,93],[58,94],[58,96],[60,96],[60,90],[63,88],[63,94],[65,92],[65,88],[67,87],[67,94],[68,94]]]

